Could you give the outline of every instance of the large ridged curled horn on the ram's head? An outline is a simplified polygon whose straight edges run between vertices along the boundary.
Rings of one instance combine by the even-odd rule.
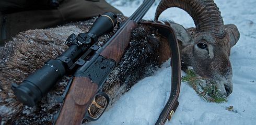
[[[220,11],[213,0],[162,0],[156,10],[155,21],[162,11],[178,7],[188,12],[193,18],[196,32],[209,32],[224,36],[224,24]]]

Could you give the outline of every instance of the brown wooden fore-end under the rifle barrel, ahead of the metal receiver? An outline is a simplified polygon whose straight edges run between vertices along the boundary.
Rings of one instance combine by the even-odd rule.
[[[136,22],[129,20],[120,33],[113,37],[112,41],[104,47],[100,55],[107,59],[114,59],[118,63],[129,46],[132,29],[136,26]]]

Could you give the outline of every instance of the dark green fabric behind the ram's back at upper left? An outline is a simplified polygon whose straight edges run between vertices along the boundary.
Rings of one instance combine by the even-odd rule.
[[[21,4],[21,6],[26,8],[26,5]],[[20,9],[21,6],[17,6],[17,8]],[[69,21],[85,20],[86,18],[103,14],[106,11],[121,14],[118,9],[104,0],[64,0],[56,9],[32,9],[11,14],[0,14],[0,44],[22,31],[50,28]]]

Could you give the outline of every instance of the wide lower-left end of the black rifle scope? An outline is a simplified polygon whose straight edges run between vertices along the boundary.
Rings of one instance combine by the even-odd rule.
[[[13,83],[11,89],[20,102],[32,107],[53,88],[57,80],[64,76],[65,72],[62,61],[50,59],[21,84]]]

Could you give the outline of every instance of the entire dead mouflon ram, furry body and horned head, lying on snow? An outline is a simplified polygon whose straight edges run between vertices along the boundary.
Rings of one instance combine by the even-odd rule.
[[[212,0],[161,1],[155,20],[169,7],[179,7],[193,18],[196,28],[185,29],[173,22],[165,22],[176,31],[180,42],[182,68],[192,67],[200,77],[207,78],[205,84],[215,81],[220,93],[228,96],[232,92],[232,69],[228,56],[230,48],[239,39],[234,24],[224,25],[218,7]],[[60,104],[54,99],[63,94],[68,77],[60,80],[52,91],[35,107],[20,104],[11,83],[21,83],[49,58],[55,58],[67,49],[66,38],[72,34],[88,31],[96,18],[63,27],[29,30],[16,35],[13,40],[0,47],[0,113],[6,124],[51,124]],[[119,20],[124,20],[123,16]],[[102,45],[113,34],[100,37]],[[103,92],[110,96],[111,104],[129,90],[139,79],[150,76],[156,66],[169,58],[168,44],[157,31],[143,24],[133,30],[130,47],[118,66],[111,72]],[[111,107],[111,104],[109,107]]]

